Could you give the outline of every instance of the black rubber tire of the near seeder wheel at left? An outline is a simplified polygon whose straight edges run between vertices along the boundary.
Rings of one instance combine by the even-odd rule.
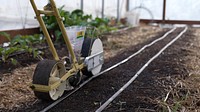
[[[48,85],[49,77],[52,68],[57,63],[55,60],[42,60],[38,63],[34,75],[33,75],[33,84]],[[48,92],[38,92],[34,91],[34,94],[37,98],[46,101],[53,101]]]

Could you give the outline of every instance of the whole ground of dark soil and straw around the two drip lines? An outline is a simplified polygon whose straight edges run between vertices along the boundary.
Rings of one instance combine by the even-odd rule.
[[[177,30],[179,32],[180,29]],[[133,54],[143,45],[160,37],[166,29],[141,26],[106,35],[103,69]],[[176,35],[174,33],[173,35]],[[200,30],[190,29],[173,46],[150,64],[137,80],[105,111],[168,111],[175,109],[198,110],[200,75]],[[51,111],[90,112],[97,109],[133,76],[170,39],[146,49],[128,63],[94,79],[80,91],[67,98]],[[35,98],[28,84],[36,64],[0,74],[0,111],[39,111],[49,103]],[[196,87],[196,88],[194,88]],[[8,93],[8,94],[6,94]],[[169,97],[164,102],[167,93]],[[183,97],[185,98],[184,100]],[[192,99],[192,100],[189,100]]]

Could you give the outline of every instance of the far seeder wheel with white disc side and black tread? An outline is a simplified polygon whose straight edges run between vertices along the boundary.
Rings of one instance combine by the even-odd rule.
[[[91,56],[102,51],[103,51],[103,44],[99,38],[97,39],[85,38],[81,51],[82,57]],[[97,75],[101,71],[101,68],[102,64],[95,67],[91,71],[88,71],[87,69],[83,70],[83,74],[87,76]]]

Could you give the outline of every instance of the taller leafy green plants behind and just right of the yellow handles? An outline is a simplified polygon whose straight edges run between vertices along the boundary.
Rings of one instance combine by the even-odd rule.
[[[61,8],[58,8],[59,13],[63,19],[63,23],[65,27],[68,26],[87,26],[87,27],[93,27],[95,29],[87,30],[86,36],[88,37],[97,37],[100,36],[103,33],[110,32],[112,30],[115,30],[116,28],[109,26],[109,19],[108,18],[99,18],[96,17],[95,19],[92,19],[92,15],[85,15],[84,12],[80,9],[76,9],[72,11],[71,13],[68,11],[63,10],[64,6]],[[55,42],[64,42],[62,37],[62,33],[60,32],[59,26],[57,24],[56,18],[54,16],[44,16],[43,20],[47,26],[47,29],[49,30],[51,34],[51,38]]]

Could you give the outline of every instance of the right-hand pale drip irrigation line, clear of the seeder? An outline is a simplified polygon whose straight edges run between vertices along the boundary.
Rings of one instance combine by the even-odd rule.
[[[119,96],[144,70],[148,65],[153,62],[158,56],[166,50],[169,46],[171,46],[176,40],[178,40],[186,31],[188,27],[185,27],[185,29],[171,42],[169,42],[165,47],[163,47],[156,55],[154,55],[142,68],[121,88],[119,89],[112,97],[110,97],[102,106],[100,106],[95,112],[101,112],[103,111],[117,96]]]

